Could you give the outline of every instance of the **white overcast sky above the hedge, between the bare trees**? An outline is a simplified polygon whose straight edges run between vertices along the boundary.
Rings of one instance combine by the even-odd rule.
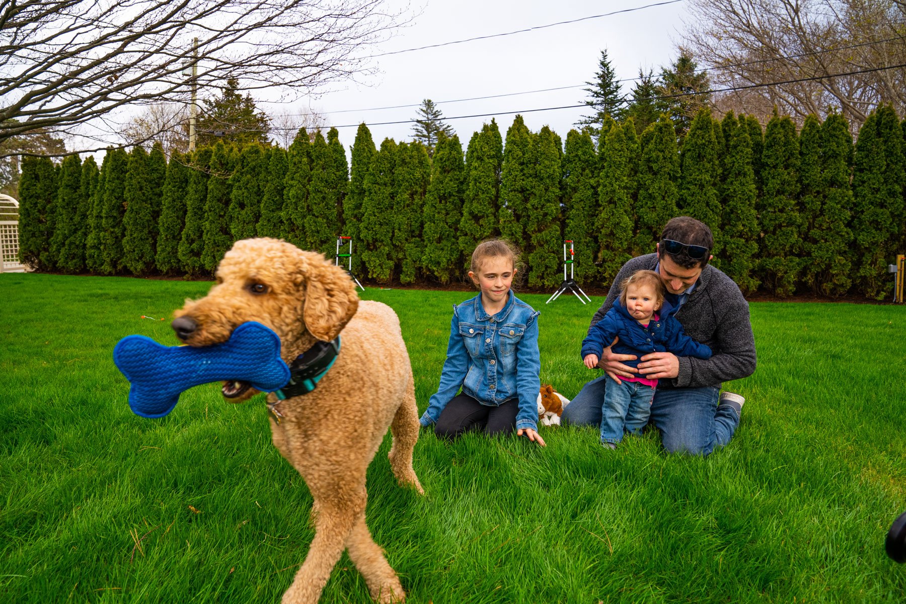
[[[398,30],[388,42],[368,53],[503,34],[659,1],[663,0],[458,0],[455,3],[428,0],[410,26]],[[310,101],[311,107],[323,114],[328,126],[366,122],[379,147],[386,137],[397,142],[410,140],[412,125],[372,124],[410,120],[416,116],[418,108],[374,108],[418,105],[422,99],[435,101],[445,118],[496,113],[501,134],[506,137],[506,129],[515,117],[509,111],[560,107],[583,101],[587,96],[582,90],[583,83],[593,79],[602,49],[607,49],[619,78],[637,77],[640,67],[646,71],[653,68],[657,72],[660,65],[674,59],[675,40],[679,37],[686,10],[686,3],[678,2],[521,34],[384,56],[376,59],[381,73],[365,79],[366,85],[334,84],[333,91]],[[628,92],[632,82],[623,85],[624,91]],[[481,101],[445,102],[565,86],[577,87]],[[263,96],[255,93],[259,105],[272,114],[281,110],[307,109],[304,101],[276,105],[264,102]],[[340,110],[356,111],[332,112]],[[529,129],[537,131],[548,125],[565,139],[582,115],[583,110],[577,108],[526,112],[524,118]],[[456,129],[465,149],[472,133],[491,117],[448,120],[448,123]],[[347,149],[352,146],[355,130],[354,127],[340,128],[340,139]]]

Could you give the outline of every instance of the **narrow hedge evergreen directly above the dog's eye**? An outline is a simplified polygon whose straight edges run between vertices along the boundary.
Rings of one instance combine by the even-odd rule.
[[[257,234],[261,217],[262,186],[265,182],[267,158],[258,144],[246,146],[239,153],[236,171],[229,177],[230,201],[226,208],[226,224],[233,241],[248,239]]]

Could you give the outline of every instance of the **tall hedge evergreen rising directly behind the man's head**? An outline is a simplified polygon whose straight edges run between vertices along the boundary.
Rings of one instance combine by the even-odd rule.
[[[679,154],[679,212],[708,225],[714,235],[714,254],[717,260],[722,248],[718,197],[719,158],[718,140],[714,136],[711,115],[700,110],[689,126],[689,134]],[[717,262],[714,263],[718,265]]]

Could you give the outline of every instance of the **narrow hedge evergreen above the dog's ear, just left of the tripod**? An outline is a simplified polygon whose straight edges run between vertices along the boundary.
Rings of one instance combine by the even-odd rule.
[[[333,176],[333,151],[319,131],[311,149],[308,212],[304,218],[305,249],[333,256],[340,234],[340,206]]]

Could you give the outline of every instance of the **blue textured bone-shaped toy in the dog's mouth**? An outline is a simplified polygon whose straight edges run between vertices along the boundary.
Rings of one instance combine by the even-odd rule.
[[[162,346],[145,336],[126,336],[113,362],[132,383],[129,406],[141,417],[164,417],[193,386],[221,380],[251,384],[263,392],[283,388],[290,370],[280,358],[280,337],[261,323],[239,325],[214,346]]]

